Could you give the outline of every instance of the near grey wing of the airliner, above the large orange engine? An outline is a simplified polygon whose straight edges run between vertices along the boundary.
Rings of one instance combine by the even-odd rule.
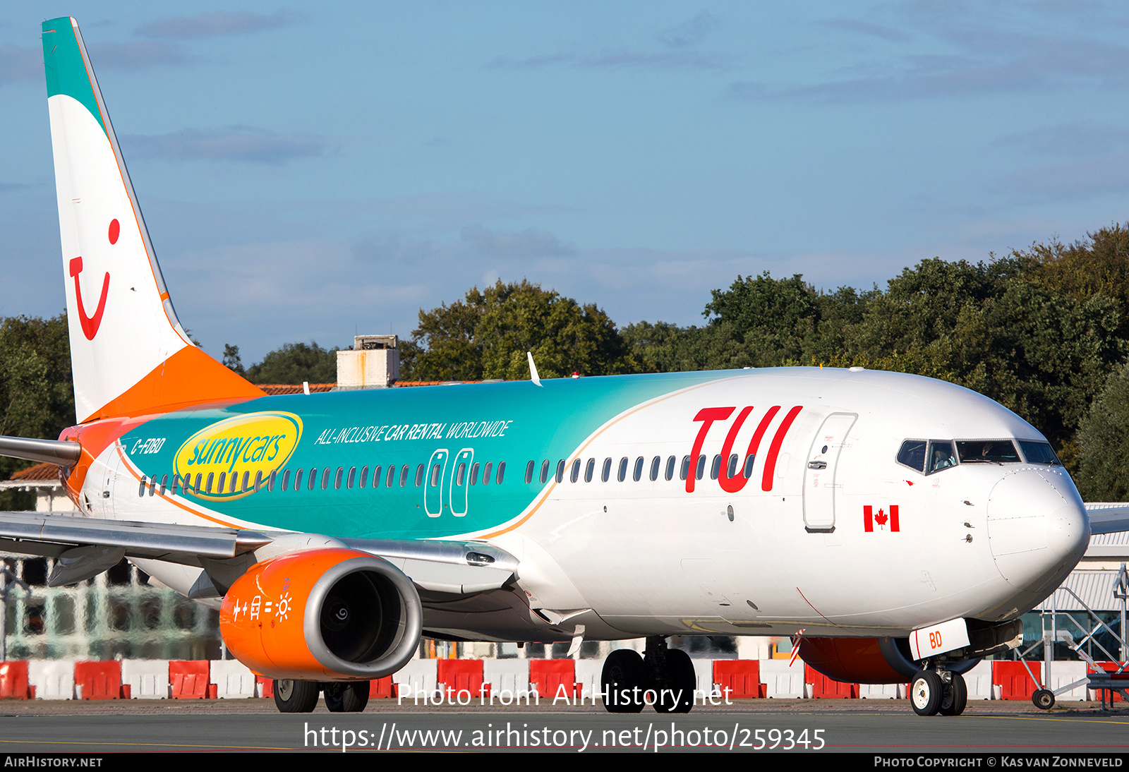
[[[265,559],[256,558],[260,551],[277,556],[280,551],[272,550],[272,545],[279,539],[292,543],[295,536],[290,532],[0,511],[0,551],[54,558],[56,564],[47,580],[51,587],[89,579],[122,558],[204,569],[224,561],[247,565]],[[353,550],[384,558],[418,587],[436,593],[469,595],[498,589],[517,570],[513,555],[481,542],[341,541]]]

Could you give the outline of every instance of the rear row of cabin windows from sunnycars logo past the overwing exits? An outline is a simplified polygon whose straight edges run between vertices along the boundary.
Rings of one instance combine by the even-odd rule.
[[[428,475],[430,477],[428,483],[430,485],[438,485],[443,465],[432,464],[431,473]],[[467,465],[462,463],[455,470],[455,484],[462,486],[469,482],[471,485],[478,485],[480,473],[483,485],[489,485],[491,481],[496,485],[500,485],[506,476],[506,462],[499,462],[497,466],[495,466],[493,462],[487,462],[485,464],[474,463],[470,465],[469,470]],[[406,488],[410,480],[418,488],[423,484],[426,474],[427,464],[417,465],[414,475],[412,474],[411,464],[404,464],[403,466],[392,464],[387,467],[386,472],[382,466],[375,466],[373,467],[371,477],[369,477],[369,467],[367,466],[362,466],[359,473],[356,466],[350,467],[348,472],[343,466],[339,466],[336,471],[332,466],[325,466],[321,470],[314,467],[308,472],[299,468],[295,470],[292,474],[290,470],[281,470],[271,472],[265,477],[260,471],[255,472],[254,479],[252,479],[250,471],[245,471],[243,472],[242,480],[238,472],[233,472],[230,475],[227,472],[220,472],[218,475],[215,472],[209,472],[207,476],[201,473],[196,474],[195,479],[191,474],[183,477],[174,474],[172,481],[169,481],[169,476],[166,474],[161,476],[159,482],[156,476],[142,476],[138,486],[138,495],[145,495],[146,492],[149,495],[157,493],[160,495],[165,495],[165,493],[175,495],[177,490],[184,493],[246,493],[260,491],[263,488],[268,491],[273,491],[275,488],[280,491],[297,491],[303,488],[313,491],[318,486],[318,482],[321,482],[323,491],[329,490],[331,484],[333,485],[333,490],[341,490],[342,485],[347,489],[353,486],[365,488],[369,482],[371,482],[373,488],[379,488],[382,480],[386,488],[394,488],[397,482],[400,488]]]

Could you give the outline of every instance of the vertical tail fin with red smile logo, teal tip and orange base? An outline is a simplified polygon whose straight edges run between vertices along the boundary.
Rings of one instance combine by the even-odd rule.
[[[176,318],[75,19],[43,23],[43,60],[78,421],[262,396]]]

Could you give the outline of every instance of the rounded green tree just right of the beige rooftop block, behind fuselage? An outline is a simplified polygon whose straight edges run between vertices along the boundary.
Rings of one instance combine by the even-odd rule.
[[[595,304],[581,306],[525,280],[473,288],[449,306],[420,309],[412,341],[420,349],[412,377],[420,380],[528,378],[526,351],[545,378],[637,369],[615,324]]]

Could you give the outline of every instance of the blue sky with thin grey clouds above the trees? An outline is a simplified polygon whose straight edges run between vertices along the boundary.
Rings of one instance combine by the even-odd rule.
[[[1129,220],[1113,2],[76,0],[0,20],[0,315],[63,307],[43,19],[80,24],[182,322],[244,362],[523,278],[697,324]]]

